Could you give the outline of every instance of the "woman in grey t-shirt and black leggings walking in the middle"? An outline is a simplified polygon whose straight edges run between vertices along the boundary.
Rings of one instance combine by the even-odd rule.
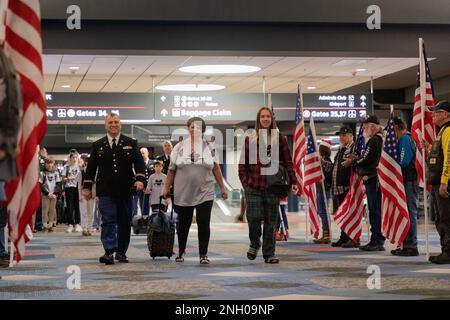
[[[195,209],[200,263],[209,264],[207,253],[211,210],[215,197],[214,183],[219,184],[223,199],[227,199],[228,196],[215,149],[203,138],[206,130],[205,121],[202,118],[194,117],[188,120],[187,127],[189,137],[179,142],[170,155],[171,161],[163,194],[167,196],[172,183],[174,183],[179,247],[176,261],[184,261],[186,242]]]

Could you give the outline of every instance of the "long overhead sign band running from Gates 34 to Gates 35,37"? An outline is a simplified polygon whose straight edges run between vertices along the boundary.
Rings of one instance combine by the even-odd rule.
[[[185,123],[191,117],[210,121],[254,121],[264,105],[260,93],[52,93],[47,94],[48,120],[103,120],[117,113],[122,120]],[[296,94],[272,94],[278,121],[295,120]],[[303,116],[316,121],[351,122],[371,113],[370,94],[304,94]]]

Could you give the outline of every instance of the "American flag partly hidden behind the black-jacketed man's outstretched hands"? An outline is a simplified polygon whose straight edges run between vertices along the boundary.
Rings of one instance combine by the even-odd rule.
[[[363,126],[359,128],[354,152],[361,156],[364,152]],[[334,221],[353,241],[359,241],[362,233],[362,218],[364,216],[365,188],[362,179],[355,170],[350,171],[350,189],[344,201],[336,210]]]

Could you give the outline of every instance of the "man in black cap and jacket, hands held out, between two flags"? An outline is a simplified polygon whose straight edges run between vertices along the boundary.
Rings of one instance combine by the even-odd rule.
[[[363,128],[367,143],[362,157],[351,155],[343,162],[343,165],[351,165],[356,168],[366,187],[371,237],[370,242],[359,247],[359,249],[363,251],[385,251],[384,241],[386,238],[381,233],[381,189],[377,174],[377,166],[383,149],[383,136],[376,116],[368,116],[364,121]]]

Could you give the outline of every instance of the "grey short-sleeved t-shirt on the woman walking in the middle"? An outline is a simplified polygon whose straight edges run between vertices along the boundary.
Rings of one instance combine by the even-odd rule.
[[[193,151],[193,152],[192,152]],[[191,139],[179,142],[170,155],[169,170],[176,170],[174,203],[191,207],[214,200],[214,163],[219,163],[214,146],[204,140],[191,150]]]

